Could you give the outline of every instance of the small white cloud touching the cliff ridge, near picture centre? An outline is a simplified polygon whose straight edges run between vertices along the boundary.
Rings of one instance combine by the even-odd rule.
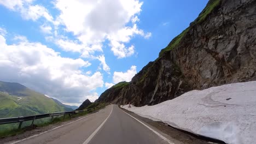
[[[130,82],[132,77],[135,76],[135,74],[137,74],[135,65],[132,65],[131,69],[127,70],[126,72],[117,72],[117,71],[115,71],[114,75],[113,75],[113,82],[114,83],[118,83],[118,82],[121,82],[121,81]]]

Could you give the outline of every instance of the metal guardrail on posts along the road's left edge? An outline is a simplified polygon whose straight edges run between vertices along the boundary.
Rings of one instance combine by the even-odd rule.
[[[95,110],[95,108],[91,108],[91,109]],[[40,118],[51,117],[51,121],[53,121],[54,116],[64,116],[63,119],[65,119],[65,115],[69,115],[69,117],[71,117],[71,115],[73,115],[73,114],[80,113],[80,112],[86,112],[91,109],[85,109],[85,110],[80,110],[80,111],[45,113],[45,114],[41,114],[41,115],[33,115],[33,116],[27,116],[27,117],[0,118],[0,125],[8,124],[8,123],[20,123],[19,129],[21,129],[22,122],[32,121],[31,125],[33,125],[34,120],[40,119]]]

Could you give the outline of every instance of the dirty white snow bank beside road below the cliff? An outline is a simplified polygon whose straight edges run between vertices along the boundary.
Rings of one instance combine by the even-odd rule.
[[[256,81],[194,90],[154,106],[128,106],[122,107],[191,133],[231,144],[256,143]]]

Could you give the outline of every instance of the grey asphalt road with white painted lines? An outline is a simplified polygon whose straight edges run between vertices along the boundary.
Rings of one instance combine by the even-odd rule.
[[[134,117],[109,105],[100,112],[33,137],[11,143],[172,143]]]

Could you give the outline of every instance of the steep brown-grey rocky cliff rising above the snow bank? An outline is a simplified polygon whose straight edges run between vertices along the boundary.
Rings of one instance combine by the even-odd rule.
[[[256,80],[256,1],[210,0],[199,17],[129,85],[98,102],[154,105],[192,89]]]

